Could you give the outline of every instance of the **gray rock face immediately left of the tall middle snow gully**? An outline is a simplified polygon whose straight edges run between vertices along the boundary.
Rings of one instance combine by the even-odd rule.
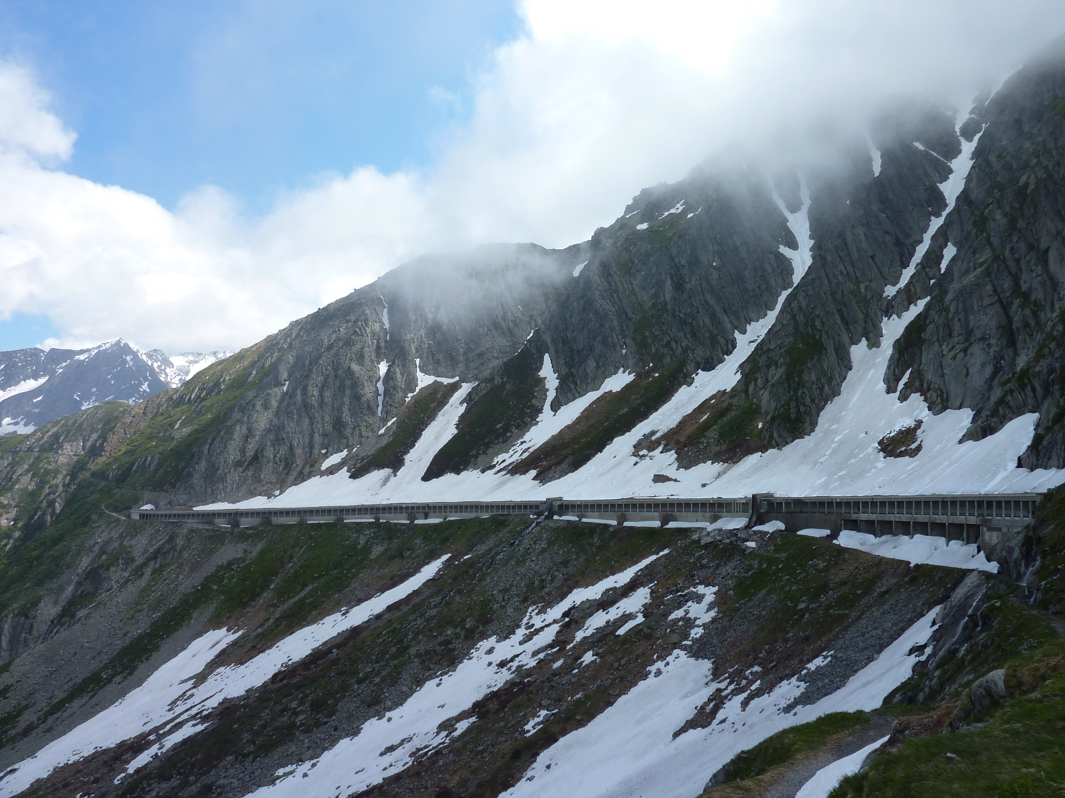
[[[641,192],[588,245],[588,265],[544,321],[560,406],[619,368],[717,366],[735,331],[791,284],[794,236],[755,165],[725,159]],[[675,210],[675,212],[674,212]]]

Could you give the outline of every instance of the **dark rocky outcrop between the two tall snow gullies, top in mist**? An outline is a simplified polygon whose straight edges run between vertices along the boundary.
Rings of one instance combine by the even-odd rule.
[[[697,462],[725,461],[744,439],[780,447],[809,434],[851,369],[851,347],[879,345],[884,289],[898,282],[929,220],[943,212],[937,183],[950,174],[945,159],[961,149],[943,111],[911,105],[890,119],[873,138],[878,174],[868,147],[845,140],[834,168],[805,176],[809,268],[743,364],[717,423],[689,442],[707,450]],[[799,210],[794,198],[789,210]]]

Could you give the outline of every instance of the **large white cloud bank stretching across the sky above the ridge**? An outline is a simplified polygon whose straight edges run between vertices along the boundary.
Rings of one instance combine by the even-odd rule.
[[[735,137],[885,96],[960,97],[1065,30],[1045,0],[525,0],[424,172],[320,176],[262,218],[207,186],[176,213],[63,172],[75,136],[0,64],[0,317],[70,340],[236,348],[432,250],[564,246]],[[440,98],[446,99],[446,98]]]

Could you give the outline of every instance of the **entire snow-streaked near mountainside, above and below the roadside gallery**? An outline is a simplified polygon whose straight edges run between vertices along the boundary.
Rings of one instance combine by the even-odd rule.
[[[715,153],[587,242],[420,257],[0,437],[0,796],[1060,792],[1063,109],[1065,40],[960,111]],[[12,353],[0,385],[47,381],[3,402],[65,356]],[[1045,496],[979,550],[756,502],[124,514],[767,492]]]

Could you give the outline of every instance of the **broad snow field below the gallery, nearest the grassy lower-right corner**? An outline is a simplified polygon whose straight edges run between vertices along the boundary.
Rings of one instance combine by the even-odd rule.
[[[691,798],[709,777],[739,751],[771,734],[829,712],[873,710],[913,672],[938,608],[906,630],[880,656],[835,693],[797,705],[805,684],[781,682],[770,693],[743,701],[757,682],[733,691],[727,678],[714,681],[714,665],[673,651],[651,666],[649,676],[590,724],[543,751],[508,798]],[[814,669],[826,661],[818,658]],[[718,691],[727,697],[712,725],[673,733],[694,717]]]

